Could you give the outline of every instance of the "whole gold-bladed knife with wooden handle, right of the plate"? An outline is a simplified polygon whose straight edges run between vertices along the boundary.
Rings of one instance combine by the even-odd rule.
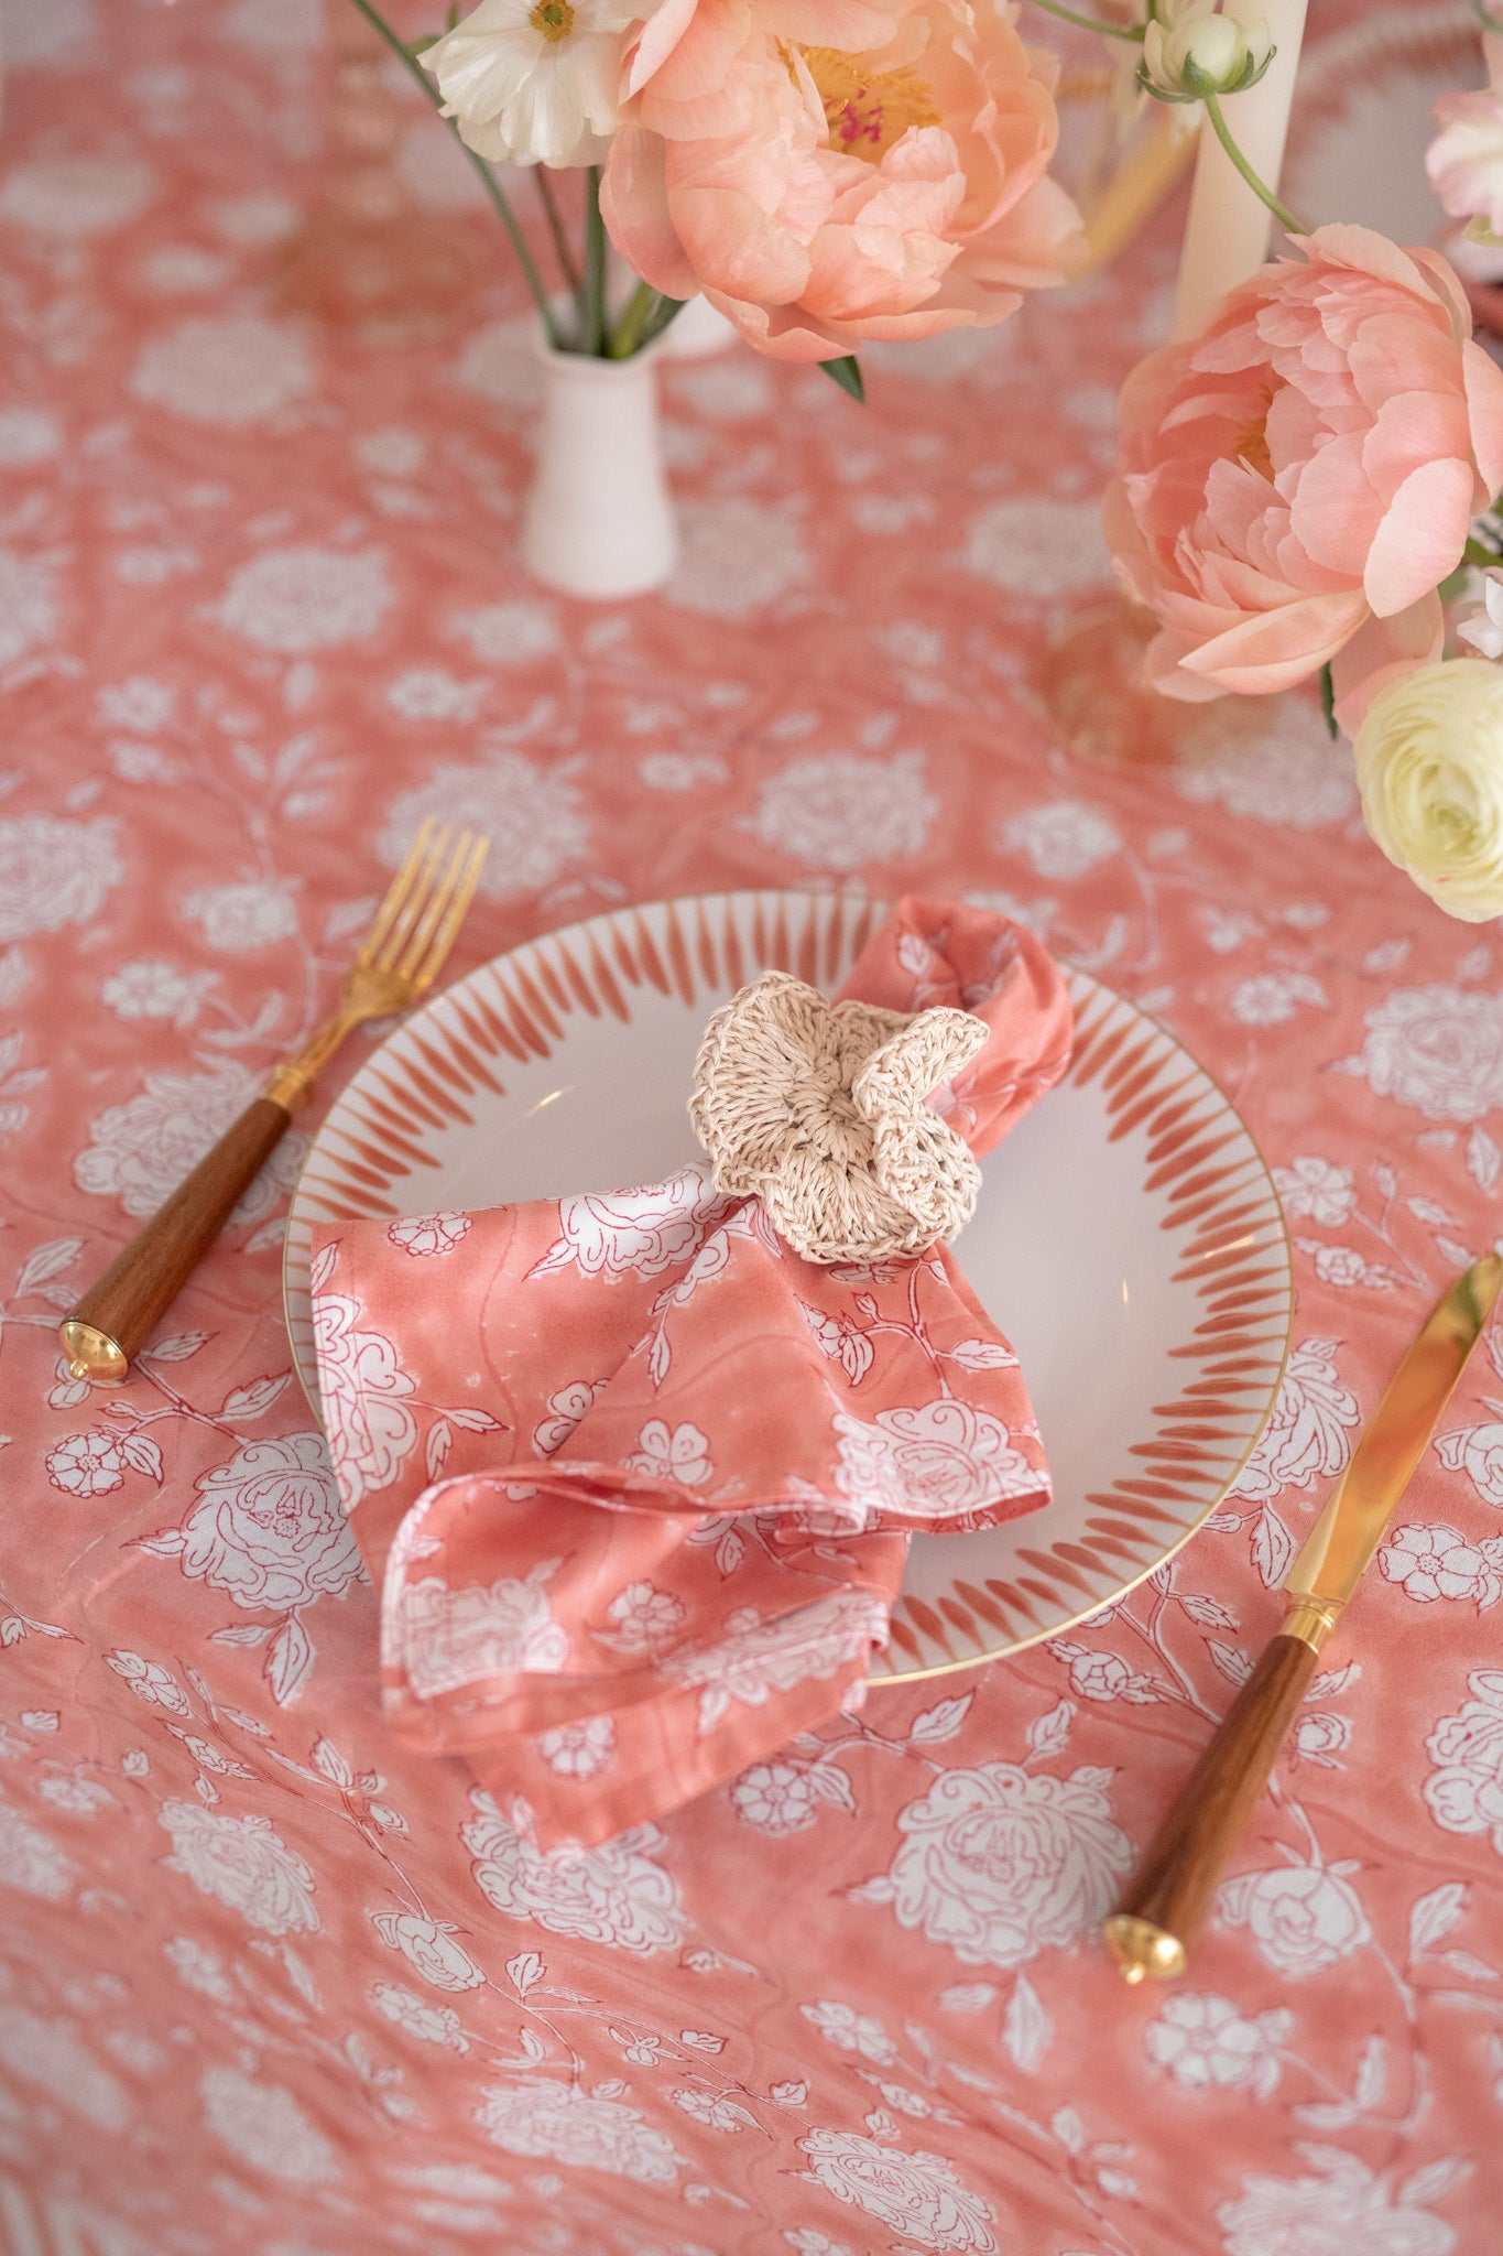
[[[1289,1613],[1170,1807],[1102,1933],[1127,1976],[1185,1972],[1226,1857],[1262,1796],[1298,1715],[1316,1654],[1384,1539],[1503,1288],[1485,1254],[1442,1293],[1372,1412],[1305,1550],[1289,1568]]]

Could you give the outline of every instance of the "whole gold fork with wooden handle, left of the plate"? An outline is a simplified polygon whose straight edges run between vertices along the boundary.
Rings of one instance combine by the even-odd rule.
[[[74,1378],[124,1378],[131,1356],[225,1225],[237,1198],[286,1135],[293,1112],[352,1026],[410,1011],[428,993],[471,905],[489,839],[426,821],[392,878],[345,975],[333,1017],[279,1065],[194,1173],[63,1318]]]

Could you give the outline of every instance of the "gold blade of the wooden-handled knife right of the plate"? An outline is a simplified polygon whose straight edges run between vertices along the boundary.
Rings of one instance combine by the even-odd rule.
[[[1296,1600],[1284,1633],[1316,1651],[1384,1541],[1393,1509],[1449,1403],[1503,1288],[1503,1259],[1485,1254],[1440,1295],[1388,1381],[1368,1430],[1284,1577]]]

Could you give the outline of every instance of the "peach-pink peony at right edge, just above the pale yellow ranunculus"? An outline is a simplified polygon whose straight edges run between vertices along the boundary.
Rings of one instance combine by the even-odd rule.
[[[1106,539],[1170,697],[1327,661],[1350,731],[1440,656],[1435,589],[1503,483],[1503,372],[1433,250],[1316,228],[1122,386]]]

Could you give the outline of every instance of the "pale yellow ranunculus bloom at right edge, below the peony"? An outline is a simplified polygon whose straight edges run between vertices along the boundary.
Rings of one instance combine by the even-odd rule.
[[[1368,830],[1451,916],[1503,916],[1503,666],[1447,659],[1379,690],[1357,731]]]

